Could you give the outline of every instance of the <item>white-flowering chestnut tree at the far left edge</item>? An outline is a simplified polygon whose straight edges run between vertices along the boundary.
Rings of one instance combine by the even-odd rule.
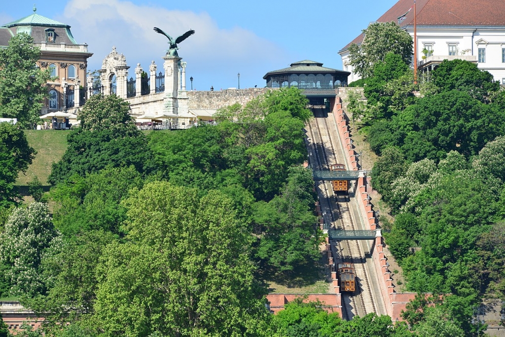
[[[60,241],[57,237],[45,204],[34,202],[12,212],[0,234],[0,263],[11,294],[30,296],[43,291],[41,260],[46,250]]]

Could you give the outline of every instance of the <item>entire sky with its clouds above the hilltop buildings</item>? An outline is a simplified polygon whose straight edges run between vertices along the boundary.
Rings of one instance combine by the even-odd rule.
[[[152,60],[162,69],[166,38],[189,29],[179,44],[193,88],[215,90],[265,86],[263,76],[301,60],[342,69],[338,50],[377,20],[397,0],[43,0],[37,14],[72,26],[78,43],[93,56],[88,70],[99,69],[115,45],[126,57],[129,77]],[[0,24],[32,14],[33,0],[0,0]]]

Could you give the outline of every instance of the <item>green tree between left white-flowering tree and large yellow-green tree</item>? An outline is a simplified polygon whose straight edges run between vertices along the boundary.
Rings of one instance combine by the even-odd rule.
[[[90,230],[66,239],[60,252],[42,259],[47,294],[22,303],[44,317],[46,332],[57,336],[88,336],[92,332],[98,288],[96,266],[107,245],[115,241],[110,232]],[[68,322],[72,324],[66,327]]]

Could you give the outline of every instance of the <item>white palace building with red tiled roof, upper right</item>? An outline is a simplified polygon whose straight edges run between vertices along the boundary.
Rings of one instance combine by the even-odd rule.
[[[377,22],[395,22],[414,38],[414,0],[399,0]],[[461,59],[505,84],[505,1],[417,0],[417,66],[429,72],[443,60]],[[348,46],[338,53],[349,82],[360,79],[349,64]]]

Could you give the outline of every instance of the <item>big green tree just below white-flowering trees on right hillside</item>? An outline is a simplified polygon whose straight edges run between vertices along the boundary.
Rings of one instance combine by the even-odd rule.
[[[411,209],[419,214],[422,249],[402,262],[410,290],[452,293],[468,300],[476,295],[475,245],[490,228],[498,189],[496,182],[493,186],[478,177],[473,171],[456,171],[416,196]]]

